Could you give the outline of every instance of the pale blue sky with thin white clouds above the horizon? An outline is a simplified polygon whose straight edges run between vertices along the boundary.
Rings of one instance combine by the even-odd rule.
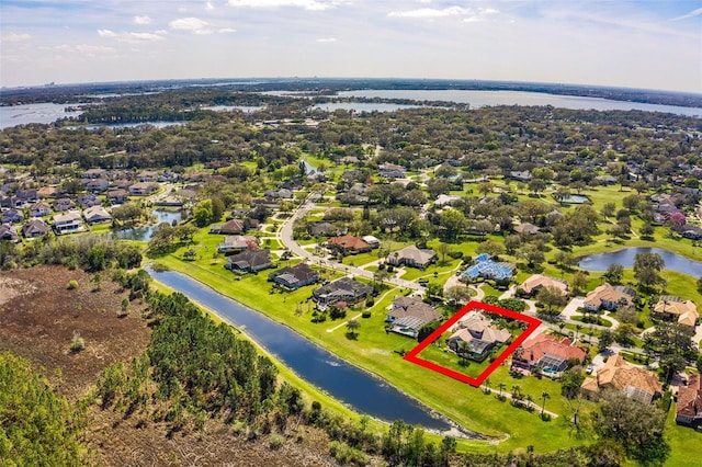
[[[702,0],[0,0],[0,86],[445,78],[702,93]]]

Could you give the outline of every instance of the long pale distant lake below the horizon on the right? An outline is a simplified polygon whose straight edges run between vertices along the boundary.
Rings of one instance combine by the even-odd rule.
[[[554,107],[596,111],[667,112],[678,115],[702,117],[700,107],[644,104],[639,102],[613,101],[600,98],[558,95],[545,92],[524,91],[467,91],[467,90],[359,90],[342,91],[340,98],[411,99],[415,101],[445,101],[471,104],[471,107],[489,105],[553,105]]]

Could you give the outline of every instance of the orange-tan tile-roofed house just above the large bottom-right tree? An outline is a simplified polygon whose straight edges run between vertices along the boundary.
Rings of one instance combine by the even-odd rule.
[[[629,397],[650,403],[663,394],[663,385],[655,373],[626,363],[620,355],[609,357],[596,378],[586,378],[580,388],[597,394],[604,388],[616,389]]]

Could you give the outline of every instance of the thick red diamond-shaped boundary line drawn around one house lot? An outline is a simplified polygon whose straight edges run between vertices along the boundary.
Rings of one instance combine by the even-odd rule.
[[[512,318],[512,319],[517,319],[520,321],[524,321],[526,323],[529,323],[529,327],[526,328],[526,330],[524,332],[522,332],[521,334],[519,334],[517,337],[517,339],[514,339],[514,341],[501,353],[497,356],[497,358],[495,358],[495,361],[490,364],[490,366],[488,366],[487,368],[485,368],[483,371],[483,373],[480,373],[477,377],[472,377],[468,375],[464,375],[463,373],[458,373],[458,372],[454,372],[453,369],[443,367],[441,365],[437,365],[435,363],[426,361],[423,358],[420,358],[418,355],[419,353],[424,350],[427,346],[429,346],[432,342],[434,342],[437,339],[439,339],[441,337],[441,334],[449,328],[451,328],[458,319],[461,319],[465,314],[467,314],[468,311],[473,310],[473,309],[479,309],[483,311],[488,311],[488,312],[494,312],[496,315],[502,315],[507,318]],[[443,324],[441,324],[441,327],[439,329],[437,329],[434,332],[432,332],[429,337],[427,337],[427,339],[424,339],[423,341],[421,341],[419,343],[419,345],[417,345],[415,349],[412,349],[411,351],[409,351],[407,354],[405,354],[404,358],[408,362],[411,362],[416,365],[419,366],[423,366],[424,368],[429,368],[431,371],[434,371],[437,373],[440,373],[442,375],[449,376],[451,378],[457,379],[463,383],[467,383],[472,386],[478,387],[480,386],[480,384],[483,384],[483,381],[490,376],[490,374],[497,369],[498,366],[500,366],[502,364],[502,362],[505,362],[505,360],[509,356],[509,354],[511,354],[514,349],[517,349],[522,342],[524,342],[524,340],[536,330],[536,328],[539,328],[539,326],[541,324],[541,321],[536,318],[533,318],[531,316],[526,316],[526,315],[522,315],[520,312],[517,311],[512,311],[512,310],[508,310],[505,308],[500,308],[500,307],[496,307],[494,305],[489,305],[489,304],[484,304],[482,301],[469,301],[465,307],[461,308],[461,310],[458,310],[458,312],[456,312],[454,316],[451,317],[451,319],[449,319],[446,322],[444,322]]]

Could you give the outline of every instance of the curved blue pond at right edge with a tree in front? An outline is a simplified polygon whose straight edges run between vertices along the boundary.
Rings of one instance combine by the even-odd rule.
[[[590,254],[578,262],[578,267],[586,271],[607,271],[611,264],[634,267],[634,259],[638,253],[658,253],[666,262],[664,269],[702,277],[702,261],[694,261],[659,248],[624,248],[610,253]],[[702,250],[698,258],[702,260]]]

